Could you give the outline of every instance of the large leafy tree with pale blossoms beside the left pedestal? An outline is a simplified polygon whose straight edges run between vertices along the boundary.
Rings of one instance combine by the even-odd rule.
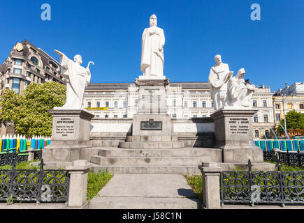
[[[52,135],[52,115],[48,110],[61,107],[66,100],[66,86],[56,82],[31,83],[22,95],[10,89],[0,98],[0,121],[13,122],[17,134]]]

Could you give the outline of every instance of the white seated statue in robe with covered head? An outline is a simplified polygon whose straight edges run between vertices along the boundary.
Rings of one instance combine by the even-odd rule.
[[[236,77],[231,77],[228,82],[227,104],[229,107],[251,108],[251,98],[256,87],[254,84],[245,83],[245,69],[238,70]]]

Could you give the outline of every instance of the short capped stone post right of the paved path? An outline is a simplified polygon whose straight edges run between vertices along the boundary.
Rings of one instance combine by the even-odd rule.
[[[207,209],[221,208],[221,197],[219,194],[219,175],[222,171],[216,162],[203,162],[199,167],[203,178],[203,207]]]

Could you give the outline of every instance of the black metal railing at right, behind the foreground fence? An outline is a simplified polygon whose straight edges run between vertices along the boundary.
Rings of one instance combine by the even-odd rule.
[[[263,151],[264,161],[277,162],[277,157],[273,153],[278,153],[281,164],[291,167],[304,167],[304,153],[298,151]]]

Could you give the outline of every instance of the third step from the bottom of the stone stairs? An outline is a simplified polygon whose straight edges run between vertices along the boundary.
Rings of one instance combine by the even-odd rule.
[[[105,157],[202,157],[210,156],[213,162],[222,162],[222,150],[217,148],[126,149],[99,148],[98,155]]]

